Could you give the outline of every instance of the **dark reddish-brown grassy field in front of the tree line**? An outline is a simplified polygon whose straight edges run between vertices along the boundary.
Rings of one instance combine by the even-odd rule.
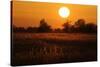
[[[96,34],[13,33],[12,65],[97,60]]]

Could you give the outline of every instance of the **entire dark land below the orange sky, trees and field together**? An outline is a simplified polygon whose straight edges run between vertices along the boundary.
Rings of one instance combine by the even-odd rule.
[[[38,27],[12,26],[11,64],[32,65],[97,60],[97,25],[78,19],[52,29],[45,19]]]

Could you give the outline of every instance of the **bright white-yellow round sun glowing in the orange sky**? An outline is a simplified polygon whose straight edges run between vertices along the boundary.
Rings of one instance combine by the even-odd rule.
[[[58,12],[62,18],[67,18],[70,15],[70,10],[67,7],[61,7]]]

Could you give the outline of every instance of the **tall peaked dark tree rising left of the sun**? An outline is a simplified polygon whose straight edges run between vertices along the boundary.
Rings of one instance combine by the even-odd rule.
[[[47,22],[45,21],[45,19],[42,19],[40,21],[40,26],[38,28],[38,32],[50,32],[51,26],[47,24]]]

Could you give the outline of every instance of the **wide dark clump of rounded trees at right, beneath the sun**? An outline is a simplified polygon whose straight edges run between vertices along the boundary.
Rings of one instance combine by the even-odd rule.
[[[78,19],[73,25],[70,25],[71,21],[67,21],[63,24],[64,32],[76,32],[76,33],[96,33],[97,26],[93,23],[87,23],[84,19]]]

